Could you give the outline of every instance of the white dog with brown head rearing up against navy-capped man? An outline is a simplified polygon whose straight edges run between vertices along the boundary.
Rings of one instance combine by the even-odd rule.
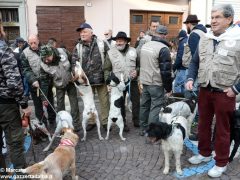
[[[79,79],[74,82],[76,88],[80,92],[80,96],[83,100],[84,109],[83,109],[83,119],[82,119],[82,127],[83,127],[83,138],[81,141],[86,141],[87,131],[86,126],[89,119],[94,119],[97,124],[98,138],[99,140],[103,140],[100,131],[100,121],[98,112],[94,103],[94,96],[92,87],[89,83],[89,80],[84,73],[80,62],[76,62],[75,73],[79,76]]]

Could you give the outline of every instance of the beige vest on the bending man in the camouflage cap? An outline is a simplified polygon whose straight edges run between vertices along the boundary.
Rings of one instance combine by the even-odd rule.
[[[45,64],[41,61],[42,69],[53,78],[53,84],[56,88],[64,88],[71,80],[70,62],[67,53],[62,48],[57,48],[61,57],[56,66]]]

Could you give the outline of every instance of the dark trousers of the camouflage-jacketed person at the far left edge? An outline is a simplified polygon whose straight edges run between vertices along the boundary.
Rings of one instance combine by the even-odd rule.
[[[17,103],[0,104],[0,126],[5,132],[6,142],[9,145],[10,159],[14,168],[24,168],[26,165],[23,146],[24,135]]]

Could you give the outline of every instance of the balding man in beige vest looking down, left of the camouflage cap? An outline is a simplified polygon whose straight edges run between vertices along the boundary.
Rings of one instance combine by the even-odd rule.
[[[29,47],[24,49],[23,53],[20,56],[23,68],[23,75],[26,78],[31,97],[33,100],[35,115],[39,121],[42,121],[46,124],[46,117],[43,112],[43,104],[41,96],[39,96],[38,88],[40,87],[40,54],[39,54],[39,39],[37,35],[30,35],[28,37]],[[52,86],[49,86],[48,89],[48,100],[53,104],[53,92]],[[55,123],[56,114],[54,110],[48,106],[48,120],[51,124]],[[47,124],[46,124],[47,125]]]

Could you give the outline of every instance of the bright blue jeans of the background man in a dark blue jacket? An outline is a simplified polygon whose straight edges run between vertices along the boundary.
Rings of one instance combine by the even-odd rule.
[[[177,70],[177,74],[176,74],[176,78],[173,86],[174,93],[184,93],[186,79],[187,79],[187,71],[181,70],[181,69]]]

